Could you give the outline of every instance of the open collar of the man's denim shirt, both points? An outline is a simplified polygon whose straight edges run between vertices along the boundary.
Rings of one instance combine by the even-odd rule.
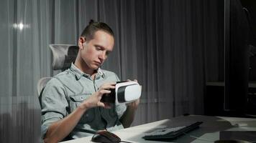
[[[81,71],[75,64],[71,64],[70,66],[70,70],[74,72],[74,74],[76,74],[76,79],[81,79],[81,77],[86,77],[86,78],[90,78],[90,74],[86,74],[83,71]],[[105,78],[105,74],[102,71],[101,68],[97,69],[97,73],[96,73],[96,79],[99,79],[100,77]]]

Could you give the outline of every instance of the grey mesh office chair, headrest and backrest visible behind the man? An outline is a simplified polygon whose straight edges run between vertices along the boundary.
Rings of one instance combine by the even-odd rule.
[[[78,54],[78,46],[70,44],[50,44],[52,51],[52,69],[65,71],[68,69],[73,61],[76,60]],[[45,89],[45,85],[50,81],[52,77],[42,77],[37,82],[37,96],[41,106],[41,95]]]

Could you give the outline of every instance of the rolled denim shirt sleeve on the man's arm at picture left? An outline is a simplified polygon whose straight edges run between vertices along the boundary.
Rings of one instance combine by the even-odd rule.
[[[65,87],[58,79],[51,79],[42,92],[42,137],[53,122],[63,119],[68,112],[68,101],[65,98]]]

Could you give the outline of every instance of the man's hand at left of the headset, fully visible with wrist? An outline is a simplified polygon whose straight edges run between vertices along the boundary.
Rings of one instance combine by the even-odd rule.
[[[104,94],[110,94],[110,89],[115,88],[116,82],[109,82],[106,84],[102,84],[101,87],[97,92],[91,95],[88,99],[86,99],[83,104],[81,104],[81,108],[89,109],[92,107],[104,107],[104,108],[111,108],[110,104],[101,102],[101,97]]]

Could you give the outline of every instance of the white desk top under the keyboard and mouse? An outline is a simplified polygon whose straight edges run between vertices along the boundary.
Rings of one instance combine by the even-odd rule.
[[[173,140],[172,142],[214,142],[219,139],[220,131],[256,131],[256,119],[251,118],[236,118],[236,117],[208,117],[191,115],[187,117],[175,117],[172,119],[163,119],[158,122],[142,124],[136,127],[129,127],[113,132],[122,140],[128,142],[154,142],[142,139],[146,132],[152,132],[153,129],[172,127],[173,125],[183,124],[184,122],[202,121],[199,129],[196,129],[182,137]],[[237,127],[238,124],[240,127]],[[73,139],[65,143],[84,143],[91,142],[91,137],[83,137]],[[256,142],[256,140],[255,140]],[[63,142],[64,143],[64,142]],[[163,143],[163,142],[158,142]]]

